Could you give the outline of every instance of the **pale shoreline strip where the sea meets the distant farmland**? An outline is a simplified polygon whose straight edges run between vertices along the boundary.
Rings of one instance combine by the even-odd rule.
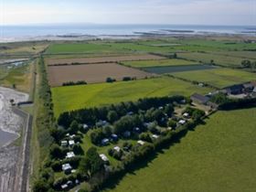
[[[192,30],[191,30],[192,31]],[[114,40],[114,39],[139,39],[147,37],[256,37],[254,32],[218,32],[218,31],[188,31],[159,29],[158,31],[133,31],[132,34],[102,34],[102,35],[42,35],[42,36],[20,36],[0,37],[0,43],[31,42],[31,41],[84,41],[84,40]]]

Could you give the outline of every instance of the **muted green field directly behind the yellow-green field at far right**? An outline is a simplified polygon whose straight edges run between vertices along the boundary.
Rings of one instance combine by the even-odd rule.
[[[237,57],[228,57],[224,55],[216,55],[211,53],[197,53],[197,52],[191,52],[191,53],[178,53],[177,56],[181,59],[191,59],[191,60],[197,60],[201,61],[202,63],[210,63],[210,60],[213,59],[214,63],[222,66],[228,66],[228,67],[238,67],[240,66],[240,63],[242,58]]]

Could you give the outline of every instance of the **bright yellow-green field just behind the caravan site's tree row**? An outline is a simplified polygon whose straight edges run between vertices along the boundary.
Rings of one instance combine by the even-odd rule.
[[[194,92],[207,93],[207,88],[200,88],[191,83],[168,77],[128,82],[100,83],[82,86],[52,88],[54,112],[77,110],[85,107],[121,101],[136,101],[144,97],[165,95],[190,95]]]

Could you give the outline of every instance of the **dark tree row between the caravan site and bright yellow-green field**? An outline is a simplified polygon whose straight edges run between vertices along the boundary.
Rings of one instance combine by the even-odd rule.
[[[139,101],[121,102],[100,108],[81,109],[73,112],[63,112],[59,115],[58,123],[69,127],[76,120],[78,123],[94,125],[100,120],[109,120],[111,123],[126,115],[128,112],[138,113],[151,108],[158,108],[173,102],[186,100],[184,96],[144,98]],[[169,108],[169,109],[168,109]],[[172,106],[166,108],[166,112],[172,112]]]

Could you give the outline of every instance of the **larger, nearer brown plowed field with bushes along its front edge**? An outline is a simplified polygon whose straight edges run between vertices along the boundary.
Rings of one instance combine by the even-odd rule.
[[[48,66],[50,86],[61,86],[64,82],[85,80],[87,83],[105,82],[108,77],[123,80],[123,77],[144,79],[154,76],[139,69],[133,69],[116,63],[88,65]]]

